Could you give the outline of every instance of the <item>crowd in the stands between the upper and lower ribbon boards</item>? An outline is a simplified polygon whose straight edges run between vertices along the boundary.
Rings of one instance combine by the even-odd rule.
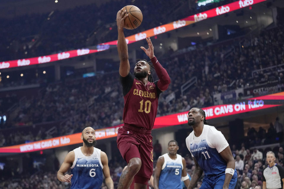
[[[173,57],[158,57],[172,82],[160,96],[157,116],[214,105],[214,94],[230,89],[270,82],[283,84],[284,69],[278,66],[284,63],[283,25],[264,30],[253,38],[241,38],[241,41],[243,48],[239,48],[238,43],[236,46],[201,46]],[[231,44],[235,44],[234,41]],[[226,53],[228,49],[233,51]],[[251,75],[251,71],[269,66],[278,67]],[[180,86],[193,76],[198,78],[197,83],[181,96]],[[33,141],[72,134],[86,126],[97,129],[118,125],[122,123],[122,111],[118,73],[50,83],[20,101],[16,114],[7,116],[4,127],[65,120],[60,129],[52,135],[45,135],[44,130],[4,134],[5,139],[0,144],[7,146],[23,143],[27,138]]]

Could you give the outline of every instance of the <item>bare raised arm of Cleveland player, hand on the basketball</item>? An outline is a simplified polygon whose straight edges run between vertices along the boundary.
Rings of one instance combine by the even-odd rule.
[[[124,26],[124,20],[128,17],[128,14],[125,14],[125,11],[119,10],[116,15],[116,24],[117,24],[117,31],[118,31],[118,37],[117,37],[117,51],[118,56],[120,59],[120,65],[119,65],[119,74],[122,77],[125,77],[128,75],[130,71],[130,65],[128,60],[128,47],[125,40],[124,32],[123,32],[123,26]],[[125,14],[125,17],[123,15]]]

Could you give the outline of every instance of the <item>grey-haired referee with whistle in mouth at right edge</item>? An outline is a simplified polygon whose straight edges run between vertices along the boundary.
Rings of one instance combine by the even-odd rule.
[[[268,167],[262,173],[262,189],[284,189],[282,186],[284,182],[284,169],[275,163],[275,154],[272,151],[267,152],[266,160]]]

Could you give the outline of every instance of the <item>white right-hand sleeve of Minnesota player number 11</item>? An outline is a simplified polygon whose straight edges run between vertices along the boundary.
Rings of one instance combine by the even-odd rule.
[[[225,136],[218,131],[215,127],[210,126],[208,130],[208,141],[207,144],[210,148],[216,148],[218,153],[222,152],[225,148],[229,146]]]

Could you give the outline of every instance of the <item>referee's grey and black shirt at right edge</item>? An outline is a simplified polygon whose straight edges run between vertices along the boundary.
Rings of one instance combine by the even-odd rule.
[[[272,167],[266,167],[262,172],[262,181],[266,182],[267,189],[282,188],[282,179],[284,178],[284,169],[278,164]]]

